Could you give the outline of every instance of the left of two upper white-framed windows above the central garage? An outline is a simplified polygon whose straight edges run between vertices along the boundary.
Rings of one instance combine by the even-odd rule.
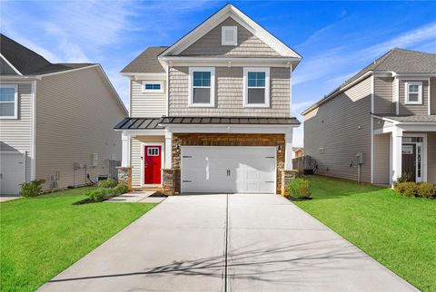
[[[213,107],[215,105],[215,68],[189,68],[189,105]]]

